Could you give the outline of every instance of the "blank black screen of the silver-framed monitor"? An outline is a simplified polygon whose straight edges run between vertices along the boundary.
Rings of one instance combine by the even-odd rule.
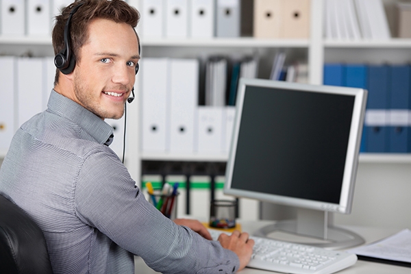
[[[339,203],[354,99],[246,86],[231,188]]]

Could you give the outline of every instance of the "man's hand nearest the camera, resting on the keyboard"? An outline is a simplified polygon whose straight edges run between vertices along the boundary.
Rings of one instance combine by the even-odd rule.
[[[222,233],[219,236],[219,242],[225,249],[234,251],[240,259],[240,269],[242,270],[247,266],[250,261],[251,254],[253,253],[254,240],[249,239],[249,234],[246,232],[239,232],[235,230],[231,236]]]

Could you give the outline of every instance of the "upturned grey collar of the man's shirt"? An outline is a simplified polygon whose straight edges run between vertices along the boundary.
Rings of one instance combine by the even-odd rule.
[[[100,144],[110,145],[112,142],[113,128],[108,123],[105,123],[103,119],[82,107],[82,105],[55,92],[55,90],[51,90],[47,108],[51,112],[82,127]]]

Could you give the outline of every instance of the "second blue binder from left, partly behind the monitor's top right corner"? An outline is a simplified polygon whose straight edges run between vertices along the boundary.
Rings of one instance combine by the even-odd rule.
[[[364,88],[368,90],[368,67],[365,64],[346,64],[343,69],[345,86]],[[368,151],[368,136],[366,127],[362,129],[360,152]]]

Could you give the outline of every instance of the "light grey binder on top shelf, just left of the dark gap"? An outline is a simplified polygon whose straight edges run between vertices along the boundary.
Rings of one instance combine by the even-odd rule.
[[[216,0],[216,36],[240,36],[240,0]]]

